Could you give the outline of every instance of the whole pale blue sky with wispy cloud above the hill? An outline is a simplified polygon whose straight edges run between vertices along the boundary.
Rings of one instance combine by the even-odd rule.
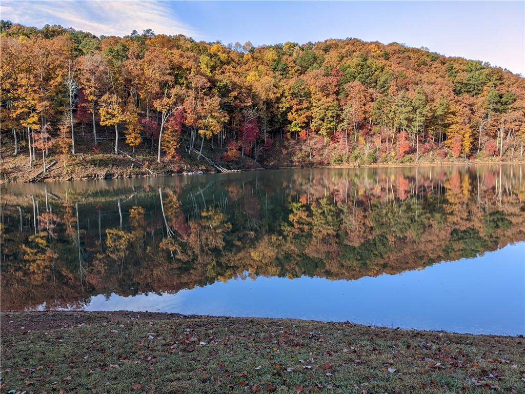
[[[173,2],[2,0],[2,19],[60,24],[95,35],[151,28],[196,40],[254,45],[327,38],[403,43],[488,61],[525,75],[525,2]]]

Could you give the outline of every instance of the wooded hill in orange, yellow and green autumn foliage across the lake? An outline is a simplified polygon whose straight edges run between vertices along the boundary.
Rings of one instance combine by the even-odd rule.
[[[135,169],[161,171],[208,165],[199,151],[230,168],[519,160],[524,151],[525,81],[482,61],[359,39],[255,47],[151,30],[97,38],[1,27],[11,170],[51,159],[67,169],[79,153],[126,152]]]

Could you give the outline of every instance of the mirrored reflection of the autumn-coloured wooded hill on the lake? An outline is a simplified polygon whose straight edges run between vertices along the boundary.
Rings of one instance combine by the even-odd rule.
[[[2,309],[245,275],[356,279],[525,240],[523,165],[8,185]],[[4,186],[5,187],[5,186]]]

